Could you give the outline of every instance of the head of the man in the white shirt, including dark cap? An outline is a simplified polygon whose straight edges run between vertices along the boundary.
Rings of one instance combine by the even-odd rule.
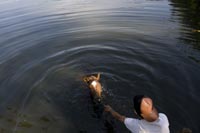
[[[158,118],[158,112],[153,106],[151,98],[145,95],[136,95],[133,98],[135,112],[142,119],[155,121]]]

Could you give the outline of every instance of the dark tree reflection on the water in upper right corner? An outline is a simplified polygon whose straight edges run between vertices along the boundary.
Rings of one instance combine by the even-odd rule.
[[[200,62],[200,0],[171,0],[171,3],[173,15],[178,16],[182,25],[179,40],[191,44],[193,48],[191,50],[186,46],[183,51],[191,59]]]

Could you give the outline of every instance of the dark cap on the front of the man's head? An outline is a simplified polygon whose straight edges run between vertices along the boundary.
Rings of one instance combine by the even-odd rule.
[[[140,116],[141,118],[143,118],[143,117],[141,116],[140,105],[141,105],[142,99],[144,97],[145,97],[145,95],[136,95],[133,98],[133,103],[134,103],[135,111],[136,111],[137,115]]]

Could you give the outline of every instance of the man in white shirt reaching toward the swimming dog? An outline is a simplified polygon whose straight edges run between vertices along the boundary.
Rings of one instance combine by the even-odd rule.
[[[105,105],[105,111],[110,112],[112,116],[123,122],[132,133],[169,133],[169,122],[167,116],[158,113],[153,106],[151,98],[144,95],[137,95],[133,99],[134,112],[141,118],[127,118],[109,105]]]

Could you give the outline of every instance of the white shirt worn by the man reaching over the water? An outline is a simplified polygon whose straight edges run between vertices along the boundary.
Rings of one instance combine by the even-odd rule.
[[[132,133],[169,133],[167,116],[162,113],[159,113],[158,119],[153,122],[125,118],[124,124]]]

